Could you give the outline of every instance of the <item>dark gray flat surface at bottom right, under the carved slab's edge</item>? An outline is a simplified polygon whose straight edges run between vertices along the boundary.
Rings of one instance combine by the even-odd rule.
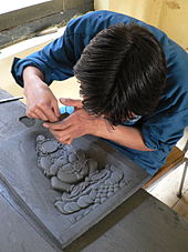
[[[188,222],[139,190],[64,252],[187,252]]]

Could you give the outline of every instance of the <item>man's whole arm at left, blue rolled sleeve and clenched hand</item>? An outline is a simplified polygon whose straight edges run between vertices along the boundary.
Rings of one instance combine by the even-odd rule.
[[[65,80],[73,75],[73,67],[84,48],[80,20],[72,20],[64,34],[42,50],[19,60],[14,59],[12,74],[15,81],[24,87],[27,114],[31,118],[54,122],[59,120],[58,101],[48,87],[53,80]],[[82,24],[84,32],[85,26]],[[88,43],[88,37],[84,42]]]

